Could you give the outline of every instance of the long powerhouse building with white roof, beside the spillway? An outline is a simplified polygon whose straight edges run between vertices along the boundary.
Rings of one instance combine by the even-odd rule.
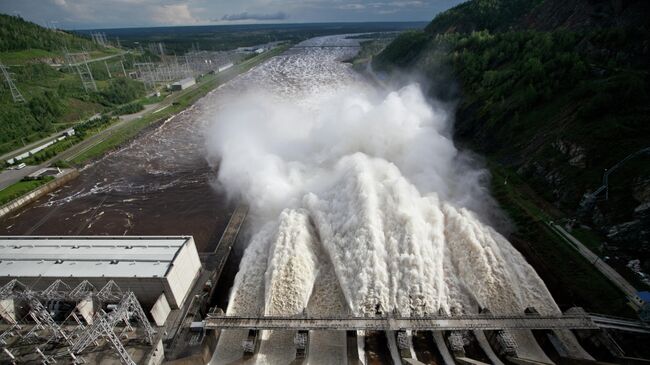
[[[165,318],[183,306],[200,270],[191,236],[0,237],[0,285],[17,279],[44,290],[57,279],[70,287],[87,280],[99,290],[113,280]]]

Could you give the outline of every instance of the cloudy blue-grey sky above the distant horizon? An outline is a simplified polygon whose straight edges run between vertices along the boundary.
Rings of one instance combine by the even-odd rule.
[[[0,0],[0,13],[61,29],[429,21],[463,0]]]

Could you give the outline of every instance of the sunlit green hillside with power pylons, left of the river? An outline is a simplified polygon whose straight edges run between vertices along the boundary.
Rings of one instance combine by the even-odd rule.
[[[0,154],[144,94],[141,83],[115,77],[124,76],[119,57],[106,64],[91,64],[99,90],[86,93],[76,70],[60,65],[64,63],[64,49],[86,51],[91,58],[121,53],[75,34],[0,14],[0,62],[26,99],[24,103],[14,102],[0,75]],[[128,69],[133,57],[127,54],[123,58]],[[111,69],[113,74],[109,75]]]

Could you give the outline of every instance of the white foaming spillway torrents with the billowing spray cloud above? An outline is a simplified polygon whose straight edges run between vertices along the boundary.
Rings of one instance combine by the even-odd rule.
[[[558,313],[532,267],[476,213],[491,208],[485,174],[454,147],[449,113],[417,85],[373,90],[339,62],[349,53],[292,50],[206,107],[218,183],[250,204],[256,230],[227,313]],[[256,91],[234,92],[241,83]],[[254,361],[290,362],[294,334],[263,333]],[[241,357],[244,337],[224,331],[213,363]],[[312,341],[310,363],[345,358],[344,334]]]

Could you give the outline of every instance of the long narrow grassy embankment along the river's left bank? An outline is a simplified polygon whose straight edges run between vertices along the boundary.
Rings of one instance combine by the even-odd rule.
[[[240,64],[237,64],[222,73],[207,75],[201,78],[195,87],[181,91],[175,96],[172,96],[171,98],[173,102],[164,110],[161,110],[157,113],[147,114],[141,118],[125,124],[123,127],[112,132],[100,143],[75,156],[70,162],[75,165],[81,165],[89,160],[102,156],[104,153],[106,153],[106,151],[112,150],[122,145],[124,142],[133,139],[146,127],[158,121],[169,118],[170,116],[184,110],[220,84],[223,84],[235,76],[250,70],[254,66],[266,61],[273,56],[281,54],[288,47],[288,45],[284,45],[274,48],[268,52],[262,53]]]

